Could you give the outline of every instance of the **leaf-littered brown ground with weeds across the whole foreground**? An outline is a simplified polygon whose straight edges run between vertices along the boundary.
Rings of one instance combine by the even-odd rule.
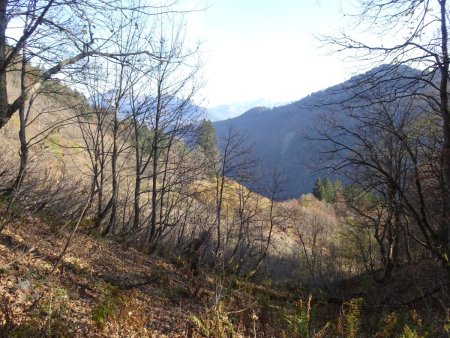
[[[0,234],[0,334],[5,337],[434,337],[450,330],[448,291],[431,262],[390,283],[360,276],[310,294],[203,273],[22,216]]]

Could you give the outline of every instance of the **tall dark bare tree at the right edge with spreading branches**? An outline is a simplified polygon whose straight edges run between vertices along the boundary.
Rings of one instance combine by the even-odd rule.
[[[450,274],[449,5],[446,0],[369,0],[359,4],[356,28],[370,29],[372,42],[360,41],[346,33],[326,41],[340,51],[354,52],[353,56],[358,60],[383,66],[366,76],[354,78],[349,86],[342,88],[353,94],[352,99],[337,99],[336,103],[347,110],[382,105],[382,110],[393,113],[400,101],[405,105],[409,100],[414,102],[414,107],[408,107],[406,115],[411,117],[421,111],[420,118],[434,126],[435,130],[428,135],[422,134],[422,138],[411,137],[411,130],[408,133],[406,129],[393,128],[398,120],[389,121],[388,129],[383,127],[391,136],[392,149],[404,148],[408,171],[411,170],[407,176],[412,184],[405,185],[403,180],[381,170],[380,166],[375,172],[389,185],[384,192],[392,190],[399,205],[414,219],[421,234],[420,238],[414,236],[415,239],[439,258]],[[412,72],[409,67],[421,71]],[[380,121],[377,118],[371,125],[378,127]],[[415,121],[416,125],[420,122]],[[349,129],[354,136],[362,136],[356,129]],[[377,129],[381,130],[380,127]],[[382,139],[377,135],[376,140],[365,140],[370,141],[367,145],[374,145]],[[338,143],[334,144],[336,151],[342,149]],[[360,152],[355,152],[358,154]],[[369,167],[365,160],[361,165]],[[431,172],[427,168],[432,169]],[[376,186],[372,185],[372,188]]]

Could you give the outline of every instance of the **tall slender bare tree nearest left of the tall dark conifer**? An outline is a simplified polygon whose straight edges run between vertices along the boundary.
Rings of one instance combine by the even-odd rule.
[[[196,166],[188,166],[187,149],[180,142],[189,142],[199,117],[192,98],[201,87],[198,79],[197,49],[185,45],[183,23],[164,22],[161,16],[158,29],[150,43],[158,60],[147,76],[143,108],[147,110],[146,125],[152,131],[150,161],[150,217],[146,243],[150,251],[173,228],[171,216],[176,202],[171,198],[174,187],[193,179]],[[168,33],[169,32],[169,33]],[[174,154],[180,156],[174,156]],[[180,162],[174,159],[179,159]],[[185,161],[183,163],[183,161]],[[183,195],[180,195],[181,197]]]

